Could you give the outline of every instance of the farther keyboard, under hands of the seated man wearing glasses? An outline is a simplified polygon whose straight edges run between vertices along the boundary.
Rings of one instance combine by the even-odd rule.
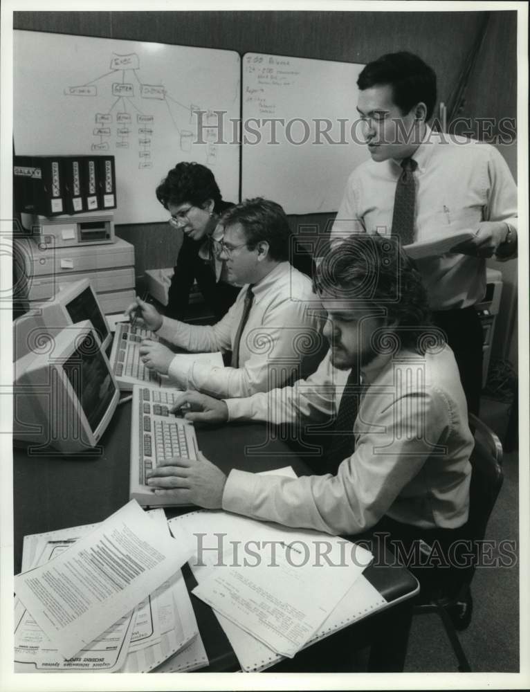
[[[145,367],[140,358],[140,343],[144,339],[158,341],[154,332],[143,327],[136,327],[129,322],[118,322],[112,342],[112,370],[120,390],[131,390],[133,385],[150,383],[161,387],[163,377],[154,370]]]

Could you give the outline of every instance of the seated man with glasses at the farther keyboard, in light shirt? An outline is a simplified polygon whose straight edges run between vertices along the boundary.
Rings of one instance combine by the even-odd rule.
[[[320,304],[311,280],[289,262],[291,230],[280,205],[250,199],[221,217],[217,253],[228,280],[243,286],[235,304],[212,327],[161,316],[139,298],[126,314],[138,314],[159,338],[188,352],[232,352],[231,367],[183,363],[154,340],[140,345],[140,358],[168,374],[182,389],[216,397],[248,397],[309,374],[322,358]]]

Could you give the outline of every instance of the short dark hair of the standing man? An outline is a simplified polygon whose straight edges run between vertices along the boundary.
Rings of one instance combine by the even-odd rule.
[[[430,120],[436,103],[436,73],[413,53],[387,53],[369,62],[357,79],[360,91],[371,86],[392,87],[394,103],[405,115],[417,103],[427,107],[426,120]]]

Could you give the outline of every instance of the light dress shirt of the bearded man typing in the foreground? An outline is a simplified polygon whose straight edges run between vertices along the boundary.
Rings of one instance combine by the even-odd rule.
[[[328,353],[307,381],[227,400],[230,421],[329,420],[347,374]],[[378,355],[362,377],[367,390],[353,428],[355,451],[337,475],[231,471],[223,509],[329,534],[358,534],[384,515],[425,529],[464,525],[473,436],[451,349]]]

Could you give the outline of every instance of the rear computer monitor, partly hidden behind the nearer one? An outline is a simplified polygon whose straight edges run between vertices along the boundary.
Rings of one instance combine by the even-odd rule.
[[[112,340],[107,318],[89,279],[63,284],[53,300],[32,306],[13,322],[13,360],[38,351],[48,334],[90,320],[103,348]]]

